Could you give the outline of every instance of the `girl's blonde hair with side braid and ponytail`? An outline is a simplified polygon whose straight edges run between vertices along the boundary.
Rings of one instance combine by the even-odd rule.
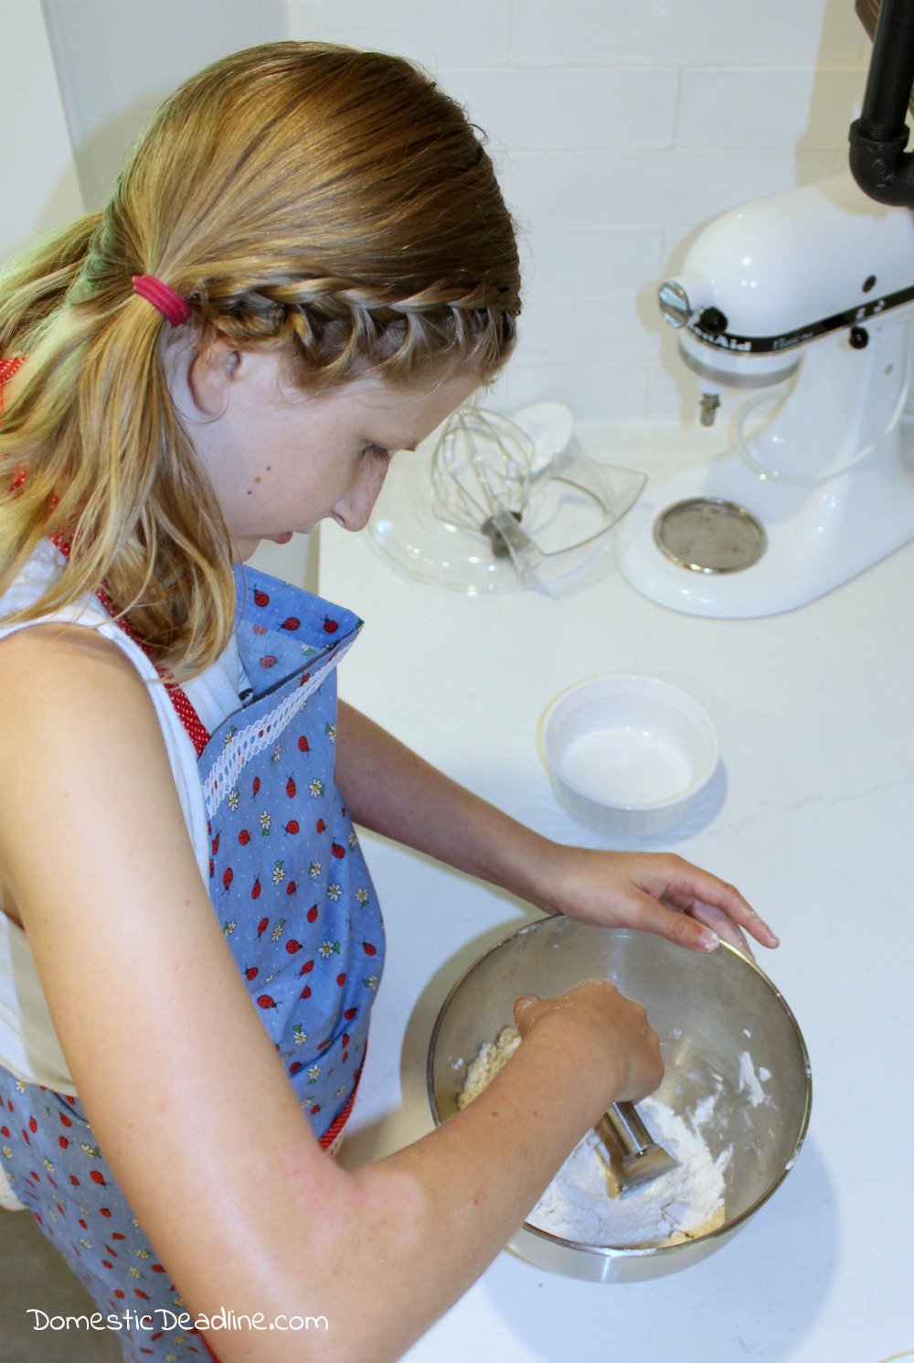
[[[191,304],[174,337],[133,294],[138,274]],[[315,393],[366,372],[484,383],[519,311],[489,157],[422,72],[298,42],[208,67],[158,110],[110,203],[0,281],[0,357],[27,356],[0,429],[0,593],[44,536],[72,542],[54,586],[11,619],[105,582],[170,676],[223,650],[229,532],[170,398],[178,338],[278,348]]]

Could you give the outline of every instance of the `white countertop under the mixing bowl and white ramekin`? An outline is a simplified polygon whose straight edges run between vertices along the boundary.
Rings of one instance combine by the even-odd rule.
[[[715,454],[725,438],[579,432],[588,454],[652,477]],[[816,602],[755,620],[667,611],[609,553],[605,568],[557,600],[473,598],[400,577],[368,536],[327,525],[321,594],[366,622],[341,694],[516,818],[597,845],[552,796],[535,740],[546,705],[599,672],[692,692],[716,724],[723,773],[688,825],[654,845],[733,880],[781,934],[781,949],[759,955],[809,1047],[809,1135],[775,1197],[702,1264],[618,1287],[504,1253],[407,1358],[914,1359],[914,545]],[[364,845],[388,964],[347,1163],[430,1127],[425,1052],[437,1010],[485,947],[534,916],[380,838]]]

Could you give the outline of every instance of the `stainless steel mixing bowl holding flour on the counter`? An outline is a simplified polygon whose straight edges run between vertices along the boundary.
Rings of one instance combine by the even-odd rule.
[[[809,1124],[809,1056],[775,985],[726,943],[703,955],[648,932],[541,919],[481,957],[445,999],[428,1058],[436,1123],[456,1112],[467,1065],[512,1021],[519,994],[545,998],[594,977],[613,980],[647,1009],[666,1063],[658,1089],[663,1103],[685,1116],[719,1090],[702,1135],[714,1159],[733,1150],[725,1172],[726,1220],[682,1244],[646,1249],[582,1244],[524,1223],[511,1249],[569,1277],[633,1283],[721,1249],[782,1183]]]

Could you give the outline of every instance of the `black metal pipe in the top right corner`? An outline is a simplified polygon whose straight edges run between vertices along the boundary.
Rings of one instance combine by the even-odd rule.
[[[860,119],[850,125],[850,170],[879,203],[914,207],[914,155],[906,153],[914,85],[914,0],[883,0]]]

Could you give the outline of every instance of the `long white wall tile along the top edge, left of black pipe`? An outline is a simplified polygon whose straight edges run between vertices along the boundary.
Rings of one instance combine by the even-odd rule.
[[[816,65],[866,46],[851,0],[514,0],[519,65]]]

